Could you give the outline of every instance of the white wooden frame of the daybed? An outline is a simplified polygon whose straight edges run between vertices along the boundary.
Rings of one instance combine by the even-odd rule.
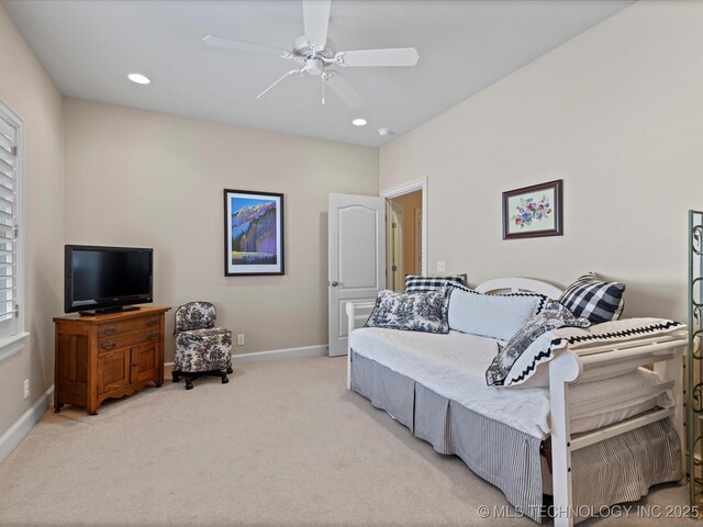
[[[558,299],[562,292],[555,285],[527,278],[499,278],[483,282],[476,289],[481,293],[529,291],[545,294],[550,299]],[[348,302],[346,304],[349,334],[368,319],[373,305],[373,302]],[[571,452],[666,418],[671,419],[679,437],[683,440],[682,380],[683,355],[687,343],[685,335],[669,334],[659,337],[643,337],[613,345],[580,347],[578,355],[567,346],[557,351],[555,358],[548,362],[555,527],[572,526],[574,513],[577,513],[571,491]],[[666,389],[672,391],[677,403],[676,406],[650,412],[572,439],[570,434],[571,419],[600,407],[605,400],[585,404],[572,402],[569,400],[569,386],[577,382],[613,377],[613,372],[616,371],[625,373],[646,365],[654,365],[655,371],[661,378],[661,382],[651,386],[639,388],[624,395],[609,396],[607,403],[618,403],[636,395],[649,393],[655,396],[662,389]],[[350,389],[350,354],[347,354],[347,389]],[[681,453],[681,462],[685,467],[685,448],[683,446]]]

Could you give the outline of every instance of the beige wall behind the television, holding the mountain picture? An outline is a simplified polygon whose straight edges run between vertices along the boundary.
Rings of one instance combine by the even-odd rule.
[[[154,247],[155,304],[214,302],[235,354],[327,343],[327,197],[377,194],[378,149],[71,99],[65,120],[66,243]],[[225,188],[284,194],[284,276],[224,277]]]

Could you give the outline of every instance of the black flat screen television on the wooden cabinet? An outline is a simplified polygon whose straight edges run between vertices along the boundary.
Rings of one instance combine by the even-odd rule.
[[[153,302],[154,249],[67,245],[64,311],[99,315]]]

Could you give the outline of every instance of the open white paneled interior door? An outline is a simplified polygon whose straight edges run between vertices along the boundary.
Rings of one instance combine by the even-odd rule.
[[[384,200],[330,194],[330,356],[347,352],[347,301],[373,302],[386,288]]]

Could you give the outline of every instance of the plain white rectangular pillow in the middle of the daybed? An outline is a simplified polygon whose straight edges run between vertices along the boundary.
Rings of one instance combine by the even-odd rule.
[[[536,293],[481,294],[451,287],[449,329],[510,340],[539,313],[547,298]]]

